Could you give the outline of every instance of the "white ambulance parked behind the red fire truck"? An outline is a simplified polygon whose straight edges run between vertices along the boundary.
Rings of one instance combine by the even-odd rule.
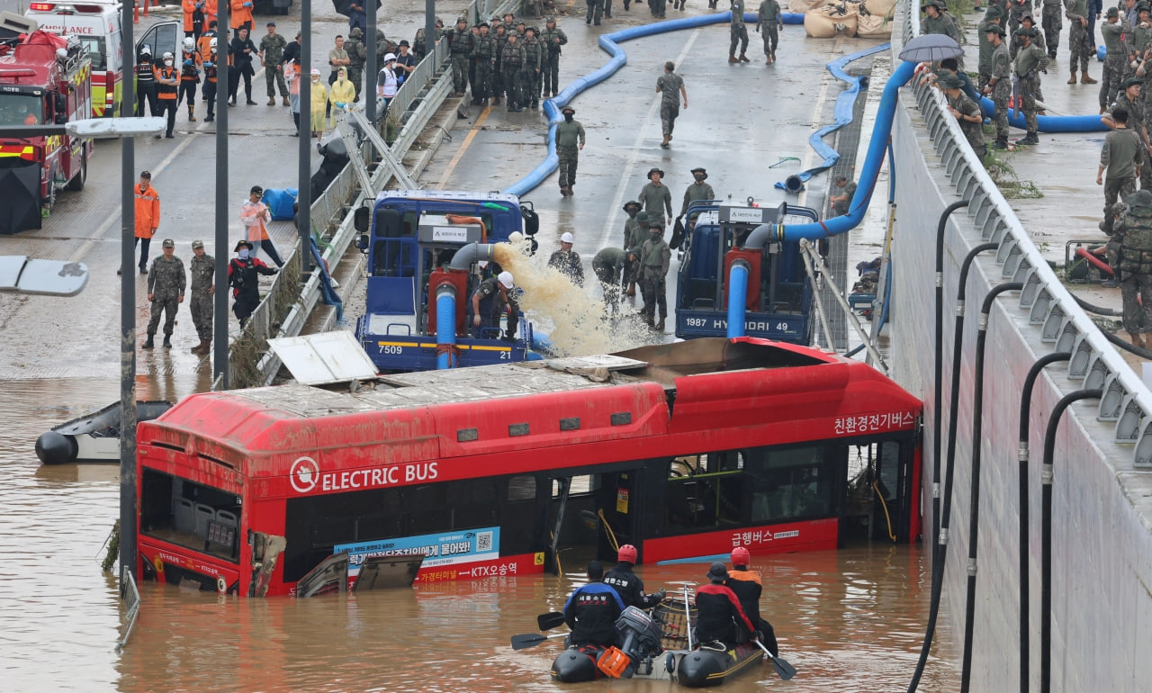
[[[92,117],[112,117],[120,112],[123,81],[123,48],[120,33],[120,2],[100,0],[33,0],[24,16],[40,30],[75,36],[92,58]]]

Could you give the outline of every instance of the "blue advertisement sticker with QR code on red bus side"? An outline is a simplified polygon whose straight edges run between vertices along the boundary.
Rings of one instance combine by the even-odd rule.
[[[340,543],[333,554],[348,551],[348,576],[359,574],[359,566],[371,556],[424,555],[424,568],[472,563],[500,557],[500,527],[482,527],[441,534],[422,534],[379,541]]]

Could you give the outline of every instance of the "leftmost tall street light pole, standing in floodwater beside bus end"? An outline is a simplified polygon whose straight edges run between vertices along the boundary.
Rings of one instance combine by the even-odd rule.
[[[132,3],[121,8],[123,100],[120,115],[136,111],[136,47]],[[120,574],[136,576],[136,142],[120,142]],[[121,595],[124,585],[121,581]]]

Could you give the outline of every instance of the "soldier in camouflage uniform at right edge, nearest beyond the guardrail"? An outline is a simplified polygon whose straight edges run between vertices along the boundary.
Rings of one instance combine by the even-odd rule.
[[[1146,349],[1144,333],[1152,332],[1152,192],[1140,190],[1126,201],[1128,213],[1116,222],[1117,229],[1123,228],[1119,276],[1124,329],[1132,345]]]

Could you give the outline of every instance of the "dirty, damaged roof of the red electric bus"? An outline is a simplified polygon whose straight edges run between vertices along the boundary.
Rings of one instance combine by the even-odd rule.
[[[150,446],[198,451],[241,475],[267,477],[300,455],[342,449],[353,452],[339,464],[356,466],[741,428],[832,439],[847,435],[841,421],[864,433],[869,414],[873,433],[911,431],[920,410],[866,364],[715,337],[388,375],[355,393],[302,384],[203,393],[141,422],[137,436],[142,456]],[[793,433],[797,424],[810,429]]]

